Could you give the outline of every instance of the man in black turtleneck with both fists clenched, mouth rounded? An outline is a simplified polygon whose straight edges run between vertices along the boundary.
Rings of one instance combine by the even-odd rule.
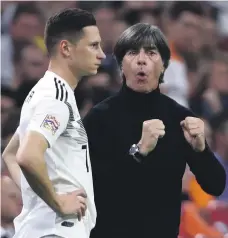
[[[159,91],[170,59],[161,31],[133,25],[114,54],[122,89],[84,119],[98,212],[91,238],[177,238],[186,163],[214,196],[224,190],[224,169],[204,122]]]

